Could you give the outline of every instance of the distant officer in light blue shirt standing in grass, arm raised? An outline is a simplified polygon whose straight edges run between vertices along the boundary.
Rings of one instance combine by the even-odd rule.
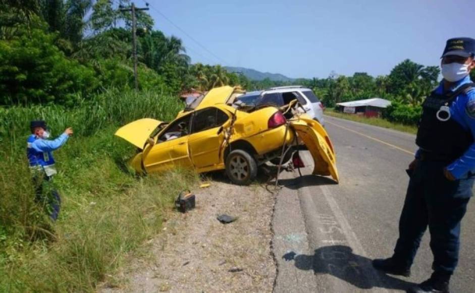
[[[49,217],[56,221],[61,208],[60,195],[56,190],[47,190],[47,194],[43,194],[43,187],[48,185],[47,183],[51,181],[51,177],[57,173],[55,159],[51,152],[65,144],[69,136],[73,134],[73,130],[67,128],[55,140],[47,140],[49,132],[46,130],[46,123],[44,121],[31,121],[30,129],[31,135],[27,140],[26,155],[32,171],[33,183],[35,184],[35,201],[47,204],[46,208]]]

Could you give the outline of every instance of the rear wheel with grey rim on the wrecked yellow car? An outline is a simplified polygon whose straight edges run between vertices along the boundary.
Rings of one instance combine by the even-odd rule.
[[[257,163],[244,150],[234,150],[226,158],[226,174],[233,183],[249,185],[257,175]]]

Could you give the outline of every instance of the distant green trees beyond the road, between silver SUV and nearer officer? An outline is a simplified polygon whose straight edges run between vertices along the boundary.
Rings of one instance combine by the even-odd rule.
[[[365,72],[353,76],[338,75],[332,72],[324,79],[296,79],[291,82],[262,80],[254,86],[271,87],[300,84],[313,89],[326,107],[333,108],[337,103],[371,97],[382,97],[393,105],[383,116],[391,122],[415,125],[420,115],[420,104],[438,84],[438,66],[423,66],[410,60],[396,65],[386,76],[373,77]]]

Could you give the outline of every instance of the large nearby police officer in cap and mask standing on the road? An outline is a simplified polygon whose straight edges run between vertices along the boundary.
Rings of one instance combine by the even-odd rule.
[[[429,227],[434,272],[408,292],[449,292],[458,263],[460,222],[475,180],[475,84],[469,77],[474,57],[475,39],[447,41],[441,61],[444,79],[422,105],[416,136],[419,149],[409,165],[394,254],[373,261],[379,270],[409,276]]]

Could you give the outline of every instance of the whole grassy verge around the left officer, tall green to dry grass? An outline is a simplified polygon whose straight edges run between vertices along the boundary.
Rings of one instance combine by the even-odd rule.
[[[124,164],[134,148],[113,133],[142,117],[171,120],[181,108],[176,97],[109,91],[73,109],[0,109],[1,292],[94,291],[160,230],[176,194],[198,178],[183,170],[134,176]],[[54,134],[75,130],[55,152],[63,200],[56,223],[34,202],[25,157],[32,119],[45,119]]]

